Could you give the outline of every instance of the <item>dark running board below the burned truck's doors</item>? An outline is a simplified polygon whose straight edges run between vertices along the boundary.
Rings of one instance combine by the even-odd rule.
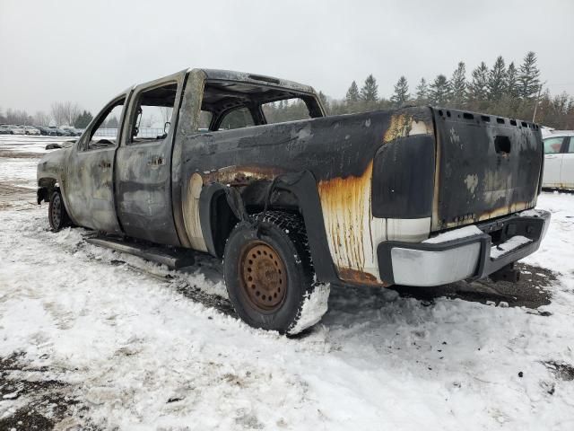
[[[143,259],[167,265],[170,268],[183,268],[193,265],[196,261],[193,251],[187,249],[172,249],[157,245],[147,245],[137,242],[121,241],[111,238],[86,238],[85,242],[99,245],[113,251],[133,254]]]

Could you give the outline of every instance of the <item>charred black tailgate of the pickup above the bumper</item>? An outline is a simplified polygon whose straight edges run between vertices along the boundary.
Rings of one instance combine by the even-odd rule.
[[[433,117],[432,231],[535,207],[544,161],[537,125],[439,108]]]

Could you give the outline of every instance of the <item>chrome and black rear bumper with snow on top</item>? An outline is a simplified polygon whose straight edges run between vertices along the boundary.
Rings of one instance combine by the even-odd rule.
[[[381,280],[405,286],[439,286],[487,277],[538,250],[549,223],[548,211],[531,209],[478,224],[474,231],[458,229],[462,237],[457,239],[440,241],[439,235],[433,242],[381,242],[378,272]],[[456,237],[456,231],[448,237]],[[501,235],[504,241],[493,246],[490,233]]]

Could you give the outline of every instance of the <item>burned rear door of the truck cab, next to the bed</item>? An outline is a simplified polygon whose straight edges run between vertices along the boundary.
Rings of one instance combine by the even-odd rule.
[[[185,75],[134,89],[115,173],[117,216],[128,236],[179,245],[171,206],[171,153]]]

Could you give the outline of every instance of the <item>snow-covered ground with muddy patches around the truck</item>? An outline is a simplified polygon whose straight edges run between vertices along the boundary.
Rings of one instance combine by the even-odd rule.
[[[36,162],[0,158],[0,185],[33,187]],[[296,338],[237,320],[219,262],[51,233],[22,196],[0,207],[0,429],[574,429],[574,194],[541,195],[552,224],[525,259],[549,304],[334,286]]]

